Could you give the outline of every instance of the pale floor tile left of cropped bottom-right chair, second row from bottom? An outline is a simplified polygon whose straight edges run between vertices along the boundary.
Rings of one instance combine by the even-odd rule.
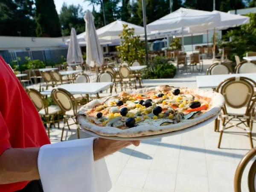
[[[210,178],[234,179],[236,163],[207,160],[207,172]]]

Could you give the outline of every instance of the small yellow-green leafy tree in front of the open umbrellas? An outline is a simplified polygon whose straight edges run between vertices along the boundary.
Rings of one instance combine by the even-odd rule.
[[[128,25],[123,25],[124,29],[122,34],[119,35],[121,38],[121,43],[116,46],[116,50],[120,52],[119,57],[122,61],[140,61],[144,62],[145,56],[145,46],[144,43],[140,41],[140,36],[134,35],[134,28],[128,28]]]

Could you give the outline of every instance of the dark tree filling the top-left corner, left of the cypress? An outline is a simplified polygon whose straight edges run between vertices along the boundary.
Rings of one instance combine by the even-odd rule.
[[[32,0],[0,1],[0,35],[35,36]]]

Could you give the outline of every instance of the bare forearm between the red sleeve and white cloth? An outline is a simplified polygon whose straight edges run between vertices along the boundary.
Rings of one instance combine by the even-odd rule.
[[[0,184],[39,179],[40,148],[10,148],[0,155]]]

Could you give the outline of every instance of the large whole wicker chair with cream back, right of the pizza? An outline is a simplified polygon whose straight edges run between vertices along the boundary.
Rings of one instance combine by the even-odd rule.
[[[231,77],[222,81],[221,84],[218,85],[216,92],[221,93],[225,98],[225,105],[222,108],[223,113],[220,116],[222,126],[220,128],[221,133],[218,148],[220,148],[221,145],[223,132],[234,126],[247,131],[251,148],[253,148],[251,136],[252,123],[250,124],[250,121],[253,120],[251,118],[251,113],[256,101],[256,98],[253,99],[253,85],[256,86],[256,82],[246,77]],[[239,110],[237,111],[237,109]],[[244,112],[241,113],[241,111]],[[238,123],[230,123],[231,120],[237,120]],[[219,122],[220,119],[217,119],[215,131],[219,130]],[[230,126],[227,126],[228,124],[230,124]],[[245,128],[239,126],[240,124],[244,125]]]

